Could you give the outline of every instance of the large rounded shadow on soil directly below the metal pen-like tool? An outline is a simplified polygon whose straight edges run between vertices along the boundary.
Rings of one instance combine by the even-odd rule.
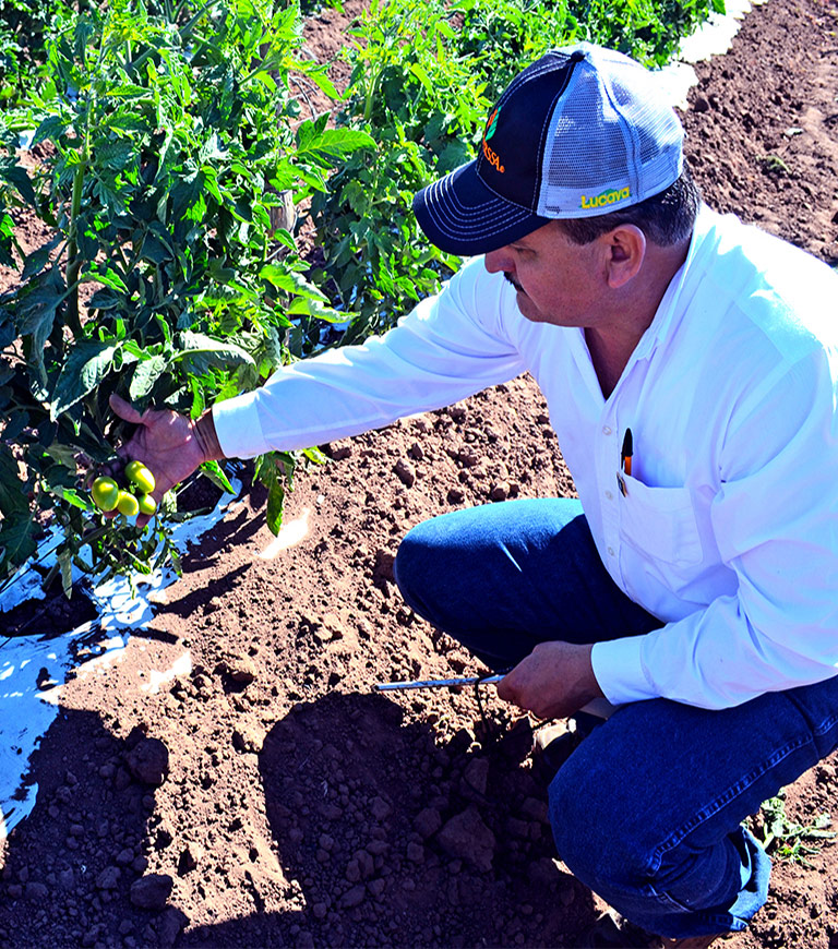
[[[592,898],[554,861],[517,725],[484,746],[465,729],[439,743],[381,695],[298,704],[260,755],[289,909],[256,899],[183,945],[577,945]]]

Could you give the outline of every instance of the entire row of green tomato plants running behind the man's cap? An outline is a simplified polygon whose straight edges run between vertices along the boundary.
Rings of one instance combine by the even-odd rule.
[[[0,584],[49,521],[45,582],[68,594],[73,567],[173,556],[173,498],[140,530],[84,488],[121,434],[109,395],[195,417],[386,329],[459,263],[421,237],[414,192],[474,155],[525,62],[582,38],[663,62],[718,4],[372,0],[338,94],[297,3],[0,0],[0,263],[20,271],[0,296]],[[307,84],[330,112],[311,115]],[[22,214],[49,233],[28,254]],[[256,460],[273,530],[296,460]]]

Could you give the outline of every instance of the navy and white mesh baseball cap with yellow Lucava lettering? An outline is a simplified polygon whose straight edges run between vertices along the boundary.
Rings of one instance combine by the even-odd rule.
[[[638,204],[681,175],[683,128],[653,73],[579,43],[520,72],[472,161],[423,188],[414,211],[448,253],[483,254],[553,218]]]

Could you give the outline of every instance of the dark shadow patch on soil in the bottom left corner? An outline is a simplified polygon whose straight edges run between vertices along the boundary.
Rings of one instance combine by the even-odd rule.
[[[118,729],[61,708],[32,755],[36,804],[0,840],[1,947],[166,947],[187,924],[171,879],[147,872],[170,842],[153,816],[167,749]]]

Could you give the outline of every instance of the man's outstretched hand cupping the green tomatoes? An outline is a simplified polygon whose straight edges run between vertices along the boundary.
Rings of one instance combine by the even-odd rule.
[[[131,440],[117,452],[125,460],[136,459],[151,469],[156,482],[152,496],[157,503],[199,465],[223,457],[212,421],[199,431],[199,424],[185,416],[170,409],[139,412],[116,394],[110,396],[110,407],[121,419],[137,427]],[[141,514],[136,524],[142,527],[149,519]]]

